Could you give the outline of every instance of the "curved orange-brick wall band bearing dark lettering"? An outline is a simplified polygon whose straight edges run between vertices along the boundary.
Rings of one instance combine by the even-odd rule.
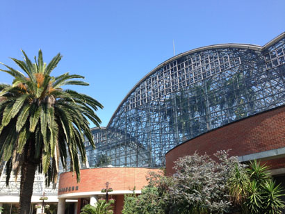
[[[58,195],[73,192],[92,192],[101,191],[106,188],[105,183],[111,183],[109,188],[113,190],[141,190],[147,185],[145,176],[148,172],[158,172],[158,169],[149,169],[141,167],[106,167],[81,170],[81,181],[76,182],[76,175],[72,176],[72,172],[60,174]],[[76,190],[78,186],[78,190]],[[74,190],[72,190],[74,187]],[[67,188],[67,191],[60,189]],[[70,189],[69,189],[70,188]]]

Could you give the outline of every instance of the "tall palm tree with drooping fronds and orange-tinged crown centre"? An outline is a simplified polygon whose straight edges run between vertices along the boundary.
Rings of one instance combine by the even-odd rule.
[[[12,58],[22,72],[4,65],[0,69],[13,76],[13,85],[0,84],[0,160],[6,161],[6,183],[11,172],[21,172],[18,213],[29,213],[35,170],[47,176],[47,183],[57,182],[58,164],[76,172],[80,180],[80,163],[86,163],[84,135],[95,147],[88,119],[99,126],[95,114],[103,106],[92,97],[74,90],[63,90],[64,85],[88,85],[83,76],[65,73],[51,76],[62,58],[60,53],[47,65],[42,51],[35,63],[24,54],[24,61]],[[75,79],[75,80],[74,80]]]

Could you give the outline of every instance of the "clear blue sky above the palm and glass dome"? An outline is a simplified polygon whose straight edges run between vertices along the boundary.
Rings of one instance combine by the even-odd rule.
[[[2,63],[13,65],[9,57],[21,58],[20,49],[30,58],[42,49],[46,62],[62,53],[54,75],[86,76],[90,86],[74,89],[104,105],[97,114],[106,126],[133,85],[173,56],[172,40],[177,54],[210,44],[266,44],[285,31],[285,1],[3,0],[0,26]],[[0,73],[0,82],[11,81]]]

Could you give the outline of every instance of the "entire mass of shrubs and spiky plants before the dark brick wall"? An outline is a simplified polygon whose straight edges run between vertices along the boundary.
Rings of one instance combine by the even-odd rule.
[[[141,195],[124,196],[123,214],[282,213],[284,195],[268,167],[218,151],[179,158],[173,177],[150,173]]]

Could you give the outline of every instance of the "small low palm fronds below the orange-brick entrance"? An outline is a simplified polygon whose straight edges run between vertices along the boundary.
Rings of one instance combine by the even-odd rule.
[[[99,200],[92,206],[87,204],[81,209],[81,214],[112,214],[113,207],[112,204],[114,203],[113,200],[106,202],[105,200]]]

